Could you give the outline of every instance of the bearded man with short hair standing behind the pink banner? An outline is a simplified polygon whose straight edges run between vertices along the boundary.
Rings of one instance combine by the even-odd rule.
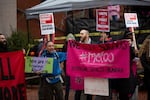
[[[80,31],[80,43],[85,44],[93,44],[94,42],[89,37],[89,31],[88,29],[84,28]],[[81,90],[75,91],[75,100],[80,100],[81,97]],[[87,95],[86,100],[92,100],[92,95]]]

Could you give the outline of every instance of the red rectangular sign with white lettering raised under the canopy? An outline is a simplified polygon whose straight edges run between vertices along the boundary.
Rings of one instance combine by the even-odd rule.
[[[96,30],[109,32],[109,18],[107,9],[96,10]]]

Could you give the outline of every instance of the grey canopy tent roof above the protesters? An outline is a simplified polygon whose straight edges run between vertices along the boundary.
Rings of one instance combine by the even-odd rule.
[[[46,0],[32,8],[26,9],[27,19],[36,18],[38,14],[65,12],[97,8],[108,5],[150,6],[148,1],[139,0]]]

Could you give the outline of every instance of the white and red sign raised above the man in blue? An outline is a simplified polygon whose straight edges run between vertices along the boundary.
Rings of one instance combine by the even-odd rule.
[[[54,34],[55,25],[53,13],[40,14],[41,35]]]

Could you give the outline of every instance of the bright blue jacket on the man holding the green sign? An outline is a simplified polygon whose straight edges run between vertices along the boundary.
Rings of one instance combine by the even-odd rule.
[[[41,54],[41,57],[50,57],[53,58],[53,73],[52,74],[43,74],[45,77],[55,77],[61,74],[62,70],[60,68],[60,63],[66,60],[65,52],[53,52],[49,53],[47,50],[44,50]],[[60,78],[48,78],[49,83],[56,83],[60,80]]]

